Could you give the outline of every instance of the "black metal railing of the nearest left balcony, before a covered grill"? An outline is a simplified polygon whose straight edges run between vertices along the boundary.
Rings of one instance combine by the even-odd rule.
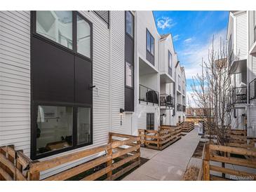
[[[152,90],[151,88],[147,88],[144,85],[140,85],[140,102],[147,102],[159,105],[159,92],[156,90]]]

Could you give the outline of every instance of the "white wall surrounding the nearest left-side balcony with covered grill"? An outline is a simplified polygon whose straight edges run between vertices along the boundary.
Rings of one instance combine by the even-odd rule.
[[[147,29],[154,36],[155,52],[154,66],[146,59],[146,34]],[[159,76],[159,39],[154,15],[152,11],[135,11],[135,113],[133,114],[133,135],[137,135],[137,129],[147,128],[147,113],[154,113],[154,128],[160,125],[160,109],[157,104],[147,102],[139,102],[139,84],[145,83],[149,88],[160,92],[160,76]],[[149,67],[154,70],[154,74],[140,76],[139,58],[146,62]],[[140,82],[141,81],[141,82]]]

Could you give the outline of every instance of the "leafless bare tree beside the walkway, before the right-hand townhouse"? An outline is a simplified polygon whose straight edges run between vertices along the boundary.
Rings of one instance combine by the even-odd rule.
[[[203,111],[202,116],[210,138],[217,135],[220,144],[224,144],[225,131],[231,124],[231,75],[236,70],[238,63],[234,61],[238,57],[234,57],[233,50],[222,39],[220,47],[215,50],[214,41],[213,36],[212,48],[208,50],[208,62],[202,59],[201,73],[193,77],[191,89],[195,104]]]

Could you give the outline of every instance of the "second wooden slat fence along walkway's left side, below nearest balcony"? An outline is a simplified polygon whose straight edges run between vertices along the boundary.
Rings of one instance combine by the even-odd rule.
[[[139,136],[145,147],[163,150],[181,138],[181,126],[164,125],[159,130],[139,129]]]

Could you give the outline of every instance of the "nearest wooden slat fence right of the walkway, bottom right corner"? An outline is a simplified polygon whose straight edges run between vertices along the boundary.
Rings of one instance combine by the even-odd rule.
[[[231,146],[206,144],[203,149],[203,180],[226,181],[239,180],[239,178],[256,180],[255,158],[256,151]],[[216,163],[213,165],[213,162],[217,162],[220,166],[217,166]],[[244,167],[250,167],[255,171],[254,173],[245,172],[244,170],[242,171],[242,167],[243,169]],[[222,176],[218,176],[213,172],[218,172]],[[227,177],[227,174],[229,177]]]

